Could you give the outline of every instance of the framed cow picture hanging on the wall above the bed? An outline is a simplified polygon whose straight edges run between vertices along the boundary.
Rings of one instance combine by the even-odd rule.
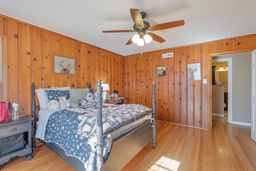
[[[75,60],[61,56],[54,56],[54,73],[75,74]]]

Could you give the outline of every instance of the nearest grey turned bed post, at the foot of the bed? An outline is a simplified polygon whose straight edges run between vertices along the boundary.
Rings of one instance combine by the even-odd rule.
[[[97,90],[97,129],[96,129],[96,135],[97,135],[97,145],[96,145],[96,154],[97,154],[97,171],[100,171],[100,168],[103,165],[103,128],[102,128],[102,85],[101,80],[98,80],[98,85],[96,87]]]

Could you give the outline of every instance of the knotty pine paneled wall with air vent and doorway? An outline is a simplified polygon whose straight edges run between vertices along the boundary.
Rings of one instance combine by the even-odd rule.
[[[123,82],[127,102],[151,107],[151,85],[155,82],[156,119],[211,129],[212,56],[250,52],[254,48],[256,34],[125,56]],[[162,59],[162,54],[168,52],[174,52],[174,57]],[[187,64],[195,62],[201,63],[202,80],[188,81]],[[157,77],[157,67],[162,66],[174,66],[175,71]]]

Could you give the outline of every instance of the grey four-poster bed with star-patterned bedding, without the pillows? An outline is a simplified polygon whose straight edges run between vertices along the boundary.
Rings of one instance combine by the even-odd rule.
[[[131,104],[104,103],[101,80],[98,80],[96,105],[83,109],[72,107],[56,109],[42,114],[47,110],[40,110],[39,106],[35,106],[34,83],[31,89],[32,117],[35,118],[32,121],[32,147],[36,147],[37,138],[78,171],[120,170],[150,141],[152,141],[152,148],[155,149],[154,83],[152,85],[152,109],[138,104],[132,106]],[[39,111],[38,116],[35,113],[36,109]],[[126,115],[132,115],[132,117],[126,118]],[[41,125],[37,125],[37,122]],[[42,123],[45,124],[45,122],[45,132],[40,133]],[[67,140],[70,141],[67,142]],[[75,143],[73,144],[71,140]]]

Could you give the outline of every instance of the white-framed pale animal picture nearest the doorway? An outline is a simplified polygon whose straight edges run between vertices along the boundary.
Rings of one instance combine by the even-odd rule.
[[[201,63],[188,64],[188,80],[201,80]]]

